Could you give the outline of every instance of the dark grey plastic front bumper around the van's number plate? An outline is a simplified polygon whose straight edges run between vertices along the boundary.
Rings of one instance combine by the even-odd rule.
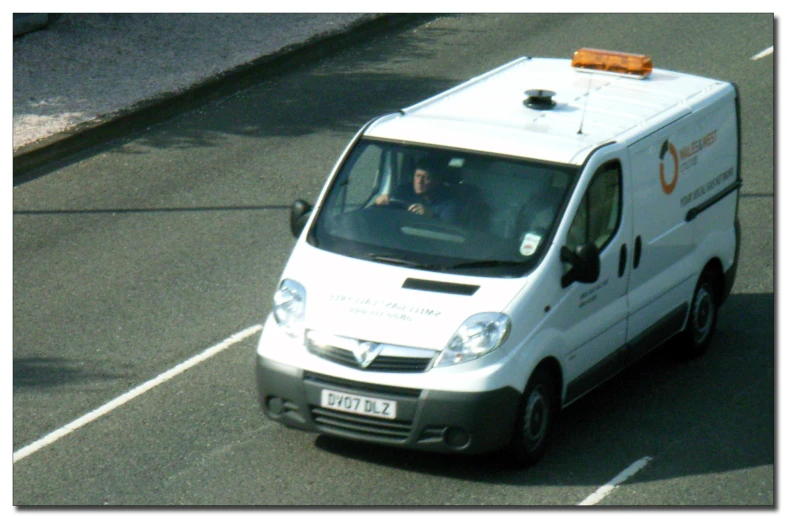
[[[288,427],[434,452],[480,453],[508,444],[520,395],[513,388],[459,393],[378,386],[286,366],[257,355],[265,415]],[[397,419],[320,407],[323,389],[395,400]]]

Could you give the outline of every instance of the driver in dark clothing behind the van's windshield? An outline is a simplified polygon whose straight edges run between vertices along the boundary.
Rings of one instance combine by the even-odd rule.
[[[443,189],[437,171],[437,165],[433,160],[419,160],[415,165],[412,186],[401,186],[391,196],[383,193],[375,199],[375,205],[385,206],[392,200],[401,200],[411,213],[448,222],[454,221],[456,201]]]

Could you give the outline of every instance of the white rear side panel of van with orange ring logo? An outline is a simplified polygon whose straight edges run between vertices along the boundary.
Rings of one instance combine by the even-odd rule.
[[[627,340],[636,341],[654,322],[688,307],[708,261],[719,257],[725,269],[734,261],[737,193],[692,212],[737,180],[732,87],[697,99],[691,114],[632,144],[629,154],[635,265]]]

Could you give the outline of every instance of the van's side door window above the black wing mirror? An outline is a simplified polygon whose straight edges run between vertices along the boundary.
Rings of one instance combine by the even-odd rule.
[[[593,242],[602,250],[615,235],[620,224],[621,171],[620,163],[609,162],[595,174],[571,222],[566,246]]]

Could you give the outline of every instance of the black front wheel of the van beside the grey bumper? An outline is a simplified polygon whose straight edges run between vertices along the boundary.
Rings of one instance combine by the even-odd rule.
[[[555,382],[547,370],[537,370],[519,402],[511,443],[504,453],[509,465],[530,467],[544,456],[559,409]]]

